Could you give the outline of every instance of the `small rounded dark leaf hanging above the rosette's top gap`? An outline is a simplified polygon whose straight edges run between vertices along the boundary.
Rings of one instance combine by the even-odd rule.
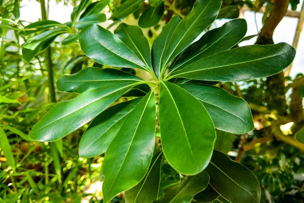
[[[148,7],[139,18],[138,25],[143,28],[157,25],[164,16],[165,6],[161,3],[157,7]]]

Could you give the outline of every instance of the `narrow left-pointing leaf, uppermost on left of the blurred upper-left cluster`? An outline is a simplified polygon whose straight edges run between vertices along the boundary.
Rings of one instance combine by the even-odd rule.
[[[30,35],[32,33],[50,29],[55,26],[64,26],[64,25],[61,24],[60,22],[57,22],[54,20],[37,21],[37,22],[30,23],[29,25],[24,27],[24,29],[25,29],[24,32],[25,32],[25,35]],[[28,29],[31,29],[31,30],[28,30]]]

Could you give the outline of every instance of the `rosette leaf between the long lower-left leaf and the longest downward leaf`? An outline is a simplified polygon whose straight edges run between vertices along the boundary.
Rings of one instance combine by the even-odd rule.
[[[94,157],[104,153],[140,99],[112,106],[99,114],[85,131],[80,144],[81,157]]]

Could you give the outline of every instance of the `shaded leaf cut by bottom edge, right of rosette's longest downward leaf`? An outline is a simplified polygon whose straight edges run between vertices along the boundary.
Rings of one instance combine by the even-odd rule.
[[[126,203],[152,203],[158,197],[163,152],[153,156],[145,177],[132,189],[126,191]]]

